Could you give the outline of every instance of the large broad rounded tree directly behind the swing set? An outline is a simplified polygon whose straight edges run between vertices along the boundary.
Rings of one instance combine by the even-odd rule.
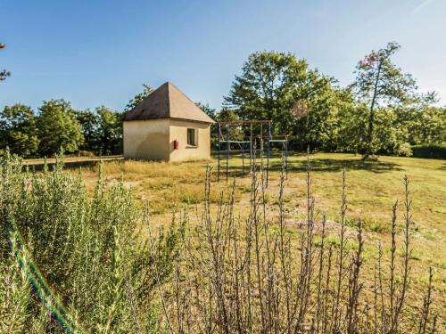
[[[243,120],[271,119],[273,134],[294,134],[301,147],[320,145],[334,111],[331,77],[309,69],[293,53],[252,53],[235,76],[225,106]]]

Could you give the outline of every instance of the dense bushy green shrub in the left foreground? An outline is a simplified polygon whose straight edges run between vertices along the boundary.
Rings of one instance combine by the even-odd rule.
[[[153,321],[160,319],[153,282],[169,279],[184,223],[174,221],[168,232],[141,240],[138,232],[147,228],[148,216],[130,190],[107,184],[101,175],[89,198],[80,176],[62,166],[59,160],[53,172],[32,174],[21,172],[20,159],[0,162],[2,235],[5,217],[12,216],[50,289],[86,332],[162,330],[160,321]],[[8,326],[0,329],[13,324],[20,332],[64,331],[45,316],[7,238],[0,240],[0,281],[6,282],[0,287],[0,326]]]

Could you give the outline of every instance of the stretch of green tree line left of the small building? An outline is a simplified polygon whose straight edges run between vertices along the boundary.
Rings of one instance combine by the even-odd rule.
[[[0,150],[22,157],[67,153],[110,155],[122,151],[121,114],[104,106],[74,110],[65,100],[49,100],[37,112],[17,103],[0,113]]]

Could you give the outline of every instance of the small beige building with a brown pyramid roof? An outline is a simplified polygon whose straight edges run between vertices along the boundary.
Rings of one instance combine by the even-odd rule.
[[[212,123],[212,118],[167,82],[124,116],[124,158],[210,159]]]

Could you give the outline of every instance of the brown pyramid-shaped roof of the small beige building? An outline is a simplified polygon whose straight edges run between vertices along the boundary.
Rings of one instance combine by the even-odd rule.
[[[159,86],[134,109],[129,110],[123,121],[156,118],[177,118],[215,123],[212,118],[169,82]]]

